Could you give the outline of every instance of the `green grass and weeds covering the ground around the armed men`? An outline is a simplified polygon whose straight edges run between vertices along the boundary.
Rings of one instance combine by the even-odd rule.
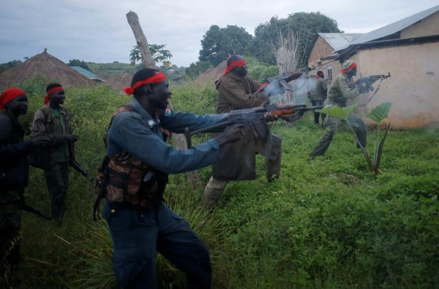
[[[32,97],[40,84],[25,87],[32,114],[42,104]],[[215,111],[213,87],[173,91],[176,110]],[[106,86],[66,92],[78,162],[94,175],[111,114],[130,98]],[[213,288],[438,288],[438,127],[391,130],[377,176],[343,127],[327,153],[309,162],[323,133],[311,113],[294,125],[278,121],[272,131],[283,137],[281,177],[268,183],[258,156],[257,179],[230,182],[213,213],[200,205],[210,168],[199,171],[196,188],[184,174],[170,178],[165,199],[208,244]],[[374,141],[369,131],[370,152]],[[42,171],[32,168],[30,184],[27,203],[48,214]],[[94,199],[93,184],[72,171],[61,227],[23,213],[21,288],[116,288],[106,224],[92,219]],[[161,288],[185,288],[184,275],[162,257],[157,266]]]

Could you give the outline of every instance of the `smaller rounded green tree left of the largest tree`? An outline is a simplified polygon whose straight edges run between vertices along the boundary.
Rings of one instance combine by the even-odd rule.
[[[209,62],[217,66],[228,58],[229,54],[244,54],[252,36],[246,29],[236,25],[219,28],[212,25],[201,40],[200,62]]]

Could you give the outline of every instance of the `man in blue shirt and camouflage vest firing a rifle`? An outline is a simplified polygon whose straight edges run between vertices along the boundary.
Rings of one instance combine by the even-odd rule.
[[[218,162],[219,148],[238,140],[242,125],[227,127],[191,149],[175,149],[165,142],[169,132],[222,123],[227,114],[198,116],[167,109],[169,81],[155,69],[137,71],[125,92],[134,98],[110,122],[106,159],[99,168],[106,177],[98,182],[99,197],[106,197],[102,216],[110,228],[117,282],[121,288],[156,288],[158,251],[186,273],[188,288],[211,288],[209,251],[189,224],[163,203],[163,192],[169,173]]]

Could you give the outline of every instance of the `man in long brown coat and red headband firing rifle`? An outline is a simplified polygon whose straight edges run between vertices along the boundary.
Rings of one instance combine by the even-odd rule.
[[[255,94],[258,84],[247,76],[246,60],[241,55],[228,58],[224,75],[215,81],[215,85],[218,90],[217,113],[270,104],[265,92]],[[244,137],[224,146],[225,157],[213,164],[212,177],[202,197],[206,208],[215,207],[228,181],[256,179],[257,153],[265,156],[265,175],[269,181],[281,173],[282,138],[271,134],[265,121],[254,123],[253,127],[244,127],[242,132]],[[267,149],[268,146],[270,149]]]

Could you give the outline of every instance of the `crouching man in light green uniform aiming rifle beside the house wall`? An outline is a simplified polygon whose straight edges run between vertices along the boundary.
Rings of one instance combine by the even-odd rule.
[[[351,86],[349,84],[352,81],[352,77],[355,75],[357,75],[357,64],[352,60],[346,60],[342,65],[341,73],[337,75],[331,83],[325,105],[337,105],[340,106],[340,108],[344,108],[348,99],[354,99],[357,97],[359,95],[357,86]],[[362,121],[355,112],[348,116],[348,121],[351,124],[351,127],[353,127],[355,134],[357,134],[360,144],[365,147],[366,126],[364,125],[364,121]],[[311,155],[309,155],[310,160],[315,159],[318,155],[324,155],[329,145],[331,145],[331,140],[333,139],[340,122],[344,121],[334,116],[328,116],[325,118],[323,127],[326,131],[318,141]]]

